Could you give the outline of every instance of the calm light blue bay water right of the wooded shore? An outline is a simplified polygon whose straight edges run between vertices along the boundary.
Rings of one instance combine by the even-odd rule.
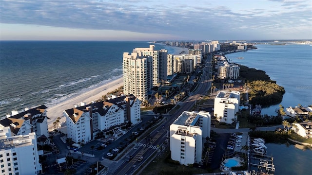
[[[256,50],[227,54],[230,62],[264,70],[286,93],[280,104],[262,109],[262,114],[276,115],[279,105],[312,105],[312,47],[310,45],[257,44]],[[237,59],[243,57],[244,59]]]

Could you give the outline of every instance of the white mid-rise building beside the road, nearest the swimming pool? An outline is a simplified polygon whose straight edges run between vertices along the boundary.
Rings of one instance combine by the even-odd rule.
[[[209,112],[184,111],[170,125],[171,158],[187,166],[200,163],[203,140],[210,137],[210,124]]]

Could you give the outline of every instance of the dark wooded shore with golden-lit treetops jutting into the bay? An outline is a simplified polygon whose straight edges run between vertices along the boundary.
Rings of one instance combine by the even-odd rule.
[[[284,87],[271,80],[265,71],[241,66],[240,76],[247,82],[250,104],[270,106],[282,101],[285,94]]]

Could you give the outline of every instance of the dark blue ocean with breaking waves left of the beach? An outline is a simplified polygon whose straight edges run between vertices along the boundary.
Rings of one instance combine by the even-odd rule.
[[[56,105],[122,73],[124,52],[147,41],[0,41],[0,117]],[[153,43],[154,44],[154,43]],[[175,47],[155,43],[155,49]]]

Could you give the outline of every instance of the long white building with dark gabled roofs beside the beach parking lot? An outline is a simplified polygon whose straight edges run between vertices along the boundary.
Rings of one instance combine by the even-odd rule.
[[[140,100],[130,94],[64,110],[67,137],[76,143],[89,142],[99,131],[117,131],[128,122],[137,124],[141,120],[140,105]]]

